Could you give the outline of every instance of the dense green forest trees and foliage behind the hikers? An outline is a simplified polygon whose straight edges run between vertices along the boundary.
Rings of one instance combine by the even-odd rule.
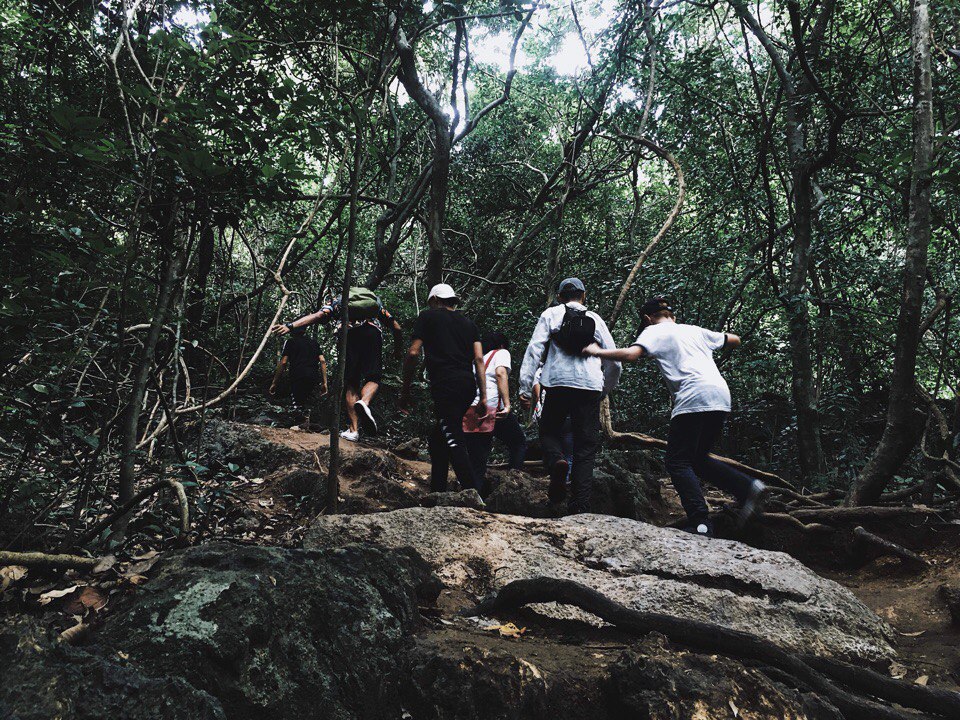
[[[256,417],[345,282],[405,329],[448,282],[518,352],[562,277],[619,344],[665,296],[743,339],[731,453],[960,489],[960,8],[914,9],[0,0],[4,541],[202,480],[178,429]],[[668,402],[640,366],[613,424]]]

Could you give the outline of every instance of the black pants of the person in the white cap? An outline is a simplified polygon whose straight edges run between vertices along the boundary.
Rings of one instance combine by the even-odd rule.
[[[430,431],[427,446],[430,449],[430,490],[445,492],[447,471],[453,465],[460,487],[476,487],[477,481],[464,442],[463,415],[473,405],[477,383],[472,377],[456,378],[430,386],[433,412],[437,424]]]

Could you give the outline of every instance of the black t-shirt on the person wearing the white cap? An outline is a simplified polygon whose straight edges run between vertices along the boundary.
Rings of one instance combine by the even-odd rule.
[[[413,339],[423,341],[430,384],[472,378],[473,344],[480,331],[473,320],[456,310],[424,310],[413,325]]]

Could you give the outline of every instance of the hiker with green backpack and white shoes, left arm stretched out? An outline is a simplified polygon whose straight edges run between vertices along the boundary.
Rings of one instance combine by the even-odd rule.
[[[294,328],[333,322],[339,335],[343,331],[340,303],[338,296],[315,313],[275,325],[273,331],[278,335],[286,335]],[[403,354],[403,332],[400,323],[369,288],[350,288],[347,310],[349,317],[347,353],[343,358],[343,385],[349,428],[341,432],[340,437],[356,442],[360,439],[361,425],[366,434],[375,434],[378,430],[370,404],[380,389],[383,374],[383,329],[389,328],[393,335],[393,351],[398,362]]]

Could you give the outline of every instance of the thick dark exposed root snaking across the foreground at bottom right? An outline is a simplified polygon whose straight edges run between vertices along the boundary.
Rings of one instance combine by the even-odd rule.
[[[659,632],[670,641],[707,652],[718,652],[738,660],[771,665],[788,675],[795,686],[809,688],[848,720],[907,720],[918,717],[958,717],[960,693],[892,680],[879,673],[828,658],[799,655],[784,650],[765,638],[710,623],[660,613],[632,610],[605,597],[593,588],[572,580],[536,577],[515,580],[499,592],[484,598],[465,615],[490,615],[530,603],[559,602],[575,605],[597,615],[617,628],[634,634]],[[839,687],[888,702],[915,708],[931,715],[880,705]]]

